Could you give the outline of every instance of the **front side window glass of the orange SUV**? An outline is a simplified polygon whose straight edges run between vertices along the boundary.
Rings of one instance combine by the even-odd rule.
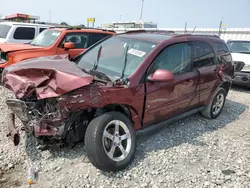
[[[63,48],[65,42],[73,42],[75,49],[87,48],[89,42],[88,33],[70,33],[62,40],[60,47]]]

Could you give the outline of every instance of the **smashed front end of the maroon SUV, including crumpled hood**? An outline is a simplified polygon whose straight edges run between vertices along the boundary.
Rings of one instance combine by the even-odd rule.
[[[16,96],[6,101],[11,110],[7,136],[12,138],[14,145],[20,140],[14,114],[22,122],[21,130],[32,133],[41,144],[73,144],[83,140],[90,115],[87,110],[68,109],[67,96],[79,88],[93,85],[93,76],[65,59],[33,60],[7,67],[2,80],[4,87]]]

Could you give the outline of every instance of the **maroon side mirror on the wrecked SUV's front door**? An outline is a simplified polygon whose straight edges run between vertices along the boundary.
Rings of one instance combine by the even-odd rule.
[[[174,81],[174,74],[165,69],[157,69],[148,76],[148,80],[151,82],[172,82]]]

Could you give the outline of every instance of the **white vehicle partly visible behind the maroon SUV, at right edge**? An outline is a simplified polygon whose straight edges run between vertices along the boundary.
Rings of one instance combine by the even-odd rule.
[[[250,88],[250,40],[229,40],[227,45],[233,61],[239,66],[239,71],[235,72],[233,84]]]

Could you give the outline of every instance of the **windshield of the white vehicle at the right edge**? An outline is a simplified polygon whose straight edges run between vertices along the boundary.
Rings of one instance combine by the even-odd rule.
[[[231,52],[250,53],[250,41],[231,41],[227,45]]]

